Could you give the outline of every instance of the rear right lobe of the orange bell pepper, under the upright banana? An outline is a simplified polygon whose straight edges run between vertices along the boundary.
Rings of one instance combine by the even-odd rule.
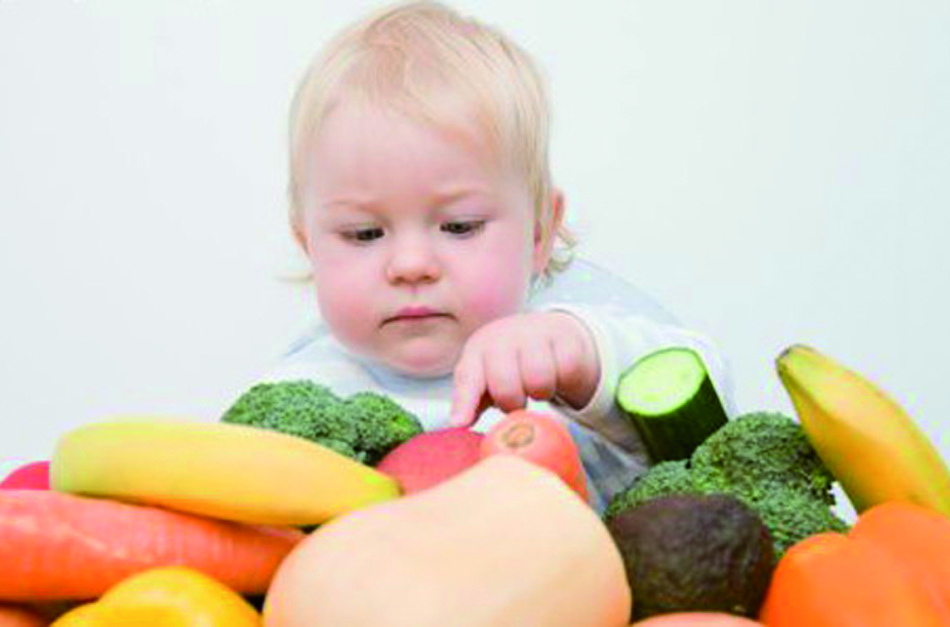
[[[900,561],[950,625],[950,520],[920,505],[891,501],[861,514],[850,536]]]

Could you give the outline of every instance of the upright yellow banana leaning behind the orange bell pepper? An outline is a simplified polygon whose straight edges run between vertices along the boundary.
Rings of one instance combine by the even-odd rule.
[[[805,434],[857,512],[896,500],[950,517],[950,472],[900,405],[807,346],[786,349],[776,366]]]

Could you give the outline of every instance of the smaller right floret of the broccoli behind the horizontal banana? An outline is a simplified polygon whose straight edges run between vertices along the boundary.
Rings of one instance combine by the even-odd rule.
[[[419,420],[388,396],[357,392],[344,403],[346,415],[356,425],[356,448],[367,464],[375,465],[397,445],[422,432]]]

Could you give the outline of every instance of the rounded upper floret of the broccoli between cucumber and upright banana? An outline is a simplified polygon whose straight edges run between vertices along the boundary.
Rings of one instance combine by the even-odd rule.
[[[751,500],[785,487],[834,504],[828,472],[801,425],[777,412],[745,414],[726,423],[690,458],[693,479],[705,492],[728,491]]]

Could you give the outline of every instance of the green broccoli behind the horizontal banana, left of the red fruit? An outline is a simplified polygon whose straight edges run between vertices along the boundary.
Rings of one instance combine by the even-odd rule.
[[[359,392],[341,399],[308,380],[258,383],[221,421],[295,435],[370,465],[423,431],[415,416],[386,396]]]

